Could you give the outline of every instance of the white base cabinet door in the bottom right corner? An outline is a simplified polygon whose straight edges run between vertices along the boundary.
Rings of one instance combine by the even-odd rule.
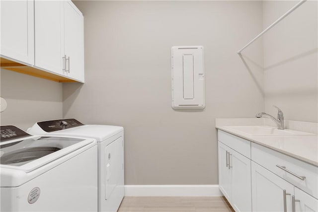
[[[318,212],[318,200],[295,187],[293,212]]]

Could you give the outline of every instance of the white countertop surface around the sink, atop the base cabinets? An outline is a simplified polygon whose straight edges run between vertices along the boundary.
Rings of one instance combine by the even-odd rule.
[[[225,123],[224,123],[225,124]],[[227,123],[228,126],[233,126]],[[236,125],[238,122],[236,122]],[[312,165],[318,166],[318,135],[288,135],[288,136],[250,136],[216,125],[216,128],[240,138],[266,146],[286,155],[300,159]]]

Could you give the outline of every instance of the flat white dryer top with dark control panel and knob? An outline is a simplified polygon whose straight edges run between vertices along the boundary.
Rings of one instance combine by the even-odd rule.
[[[83,125],[76,119],[62,119],[45,122],[38,122],[28,130],[32,135],[58,135],[58,136],[73,136],[83,138],[93,138],[97,142],[102,142],[110,137],[122,132],[123,127],[110,125]],[[67,125],[63,129],[63,125]],[[51,127],[49,127],[51,126]],[[68,126],[70,126],[68,128]],[[48,129],[56,129],[54,131]]]

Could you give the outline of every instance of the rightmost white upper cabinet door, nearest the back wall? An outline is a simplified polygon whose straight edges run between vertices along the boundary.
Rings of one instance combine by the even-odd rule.
[[[71,0],[64,1],[67,76],[84,82],[84,18]]]

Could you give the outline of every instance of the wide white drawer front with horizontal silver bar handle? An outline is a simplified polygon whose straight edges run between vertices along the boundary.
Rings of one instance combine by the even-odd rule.
[[[318,167],[256,143],[252,143],[251,146],[251,159],[253,161],[315,198],[318,197]],[[277,165],[306,178],[299,179]]]

